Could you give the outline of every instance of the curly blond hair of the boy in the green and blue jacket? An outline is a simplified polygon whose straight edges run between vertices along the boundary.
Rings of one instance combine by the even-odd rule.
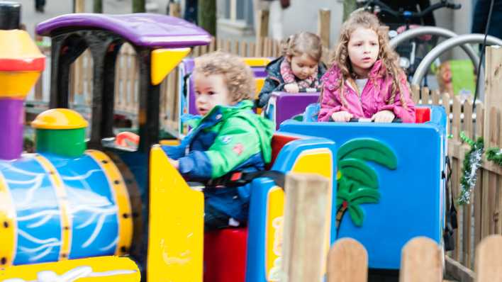
[[[233,103],[255,96],[255,77],[251,68],[237,55],[227,52],[211,52],[195,59],[194,72],[206,77],[223,74],[228,94]]]

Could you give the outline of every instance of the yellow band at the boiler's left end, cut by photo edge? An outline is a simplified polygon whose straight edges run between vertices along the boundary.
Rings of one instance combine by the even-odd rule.
[[[11,266],[16,255],[16,209],[9,186],[0,172],[0,269]]]

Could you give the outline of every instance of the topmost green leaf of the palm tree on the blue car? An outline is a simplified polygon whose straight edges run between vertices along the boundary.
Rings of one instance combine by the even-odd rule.
[[[338,162],[343,159],[363,159],[396,169],[397,158],[392,150],[373,138],[356,138],[345,142],[338,150]]]

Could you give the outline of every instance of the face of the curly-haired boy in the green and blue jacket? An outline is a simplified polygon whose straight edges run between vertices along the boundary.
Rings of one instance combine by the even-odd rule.
[[[230,106],[232,101],[223,74],[194,73],[195,106],[201,115],[206,115],[215,106]]]

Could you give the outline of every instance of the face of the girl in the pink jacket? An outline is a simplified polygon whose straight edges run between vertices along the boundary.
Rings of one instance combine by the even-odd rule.
[[[357,28],[350,34],[347,44],[352,69],[369,70],[379,53],[378,35],[370,28]]]

